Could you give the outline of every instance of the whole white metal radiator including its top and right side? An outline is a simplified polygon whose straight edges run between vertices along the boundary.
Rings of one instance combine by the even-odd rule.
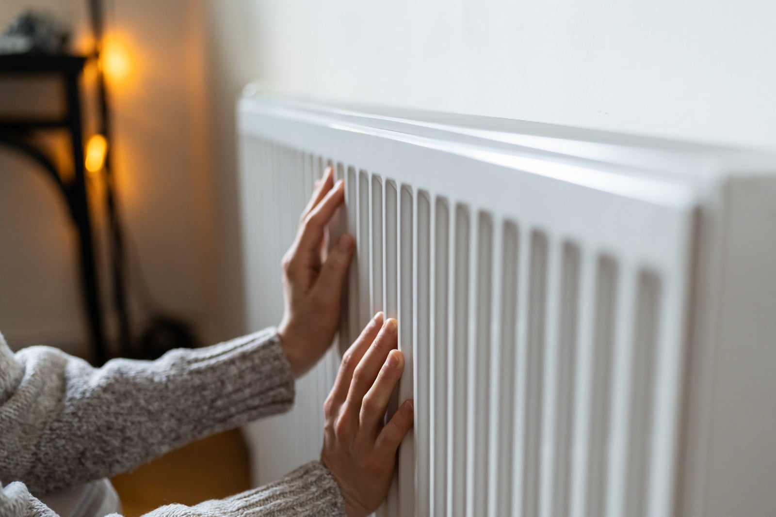
[[[251,329],[327,164],[358,246],[338,350],[248,429],[258,483],[320,456],[383,310],[416,411],[383,515],[776,515],[776,157],[263,96],[238,119]]]

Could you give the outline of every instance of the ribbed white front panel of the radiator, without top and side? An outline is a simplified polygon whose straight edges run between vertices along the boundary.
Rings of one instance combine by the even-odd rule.
[[[251,120],[251,327],[280,320],[280,258],[327,165],[346,188],[331,238],[357,242],[338,346],[292,412],[251,426],[271,444],[258,481],[320,456],[341,350],[382,310],[407,359],[397,401],[416,415],[380,515],[672,515],[694,209],[681,186],[272,106]]]

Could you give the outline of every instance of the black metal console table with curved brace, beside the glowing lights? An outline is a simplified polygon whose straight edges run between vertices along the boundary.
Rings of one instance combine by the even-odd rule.
[[[87,60],[88,57],[74,55],[0,56],[0,76],[56,75],[64,84],[66,102],[64,115],[59,117],[0,117],[0,144],[18,150],[39,164],[48,178],[54,181],[68,206],[68,213],[78,232],[78,260],[94,360],[102,364],[109,354],[104,311],[100,303],[99,277],[95,267],[95,241],[86,191],[81,119],[81,74]],[[73,174],[68,176],[67,181],[57,170],[54,161],[33,142],[34,135],[53,130],[66,131],[70,139]]]

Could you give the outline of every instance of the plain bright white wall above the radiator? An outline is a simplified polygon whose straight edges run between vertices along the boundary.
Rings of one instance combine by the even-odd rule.
[[[211,5],[251,18],[244,55],[281,92],[776,145],[772,0]]]

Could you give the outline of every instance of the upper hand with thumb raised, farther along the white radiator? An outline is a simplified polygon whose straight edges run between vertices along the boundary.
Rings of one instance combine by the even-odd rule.
[[[337,331],[342,281],[354,242],[352,236],[341,236],[326,257],[324,235],[344,200],[345,185],[334,184],[329,167],[302,212],[296,240],[282,260],[286,312],[278,334],[296,377],[323,357]]]

